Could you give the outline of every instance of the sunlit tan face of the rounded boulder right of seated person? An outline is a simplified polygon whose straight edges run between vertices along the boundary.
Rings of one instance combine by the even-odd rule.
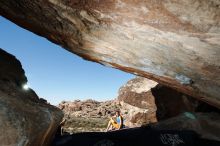
[[[137,77],[128,81],[119,89],[118,100],[125,125],[139,127],[157,122],[155,97],[151,88],[158,83],[146,78]]]

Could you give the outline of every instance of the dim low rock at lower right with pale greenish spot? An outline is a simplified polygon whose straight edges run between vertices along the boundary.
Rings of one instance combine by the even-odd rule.
[[[155,124],[158,130],[193,130],[202,138],[220,141],[219,113],[183,113]]]

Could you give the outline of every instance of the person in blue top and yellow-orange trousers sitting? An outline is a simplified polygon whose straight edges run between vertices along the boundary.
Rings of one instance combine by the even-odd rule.
[[[116,118],[114,120],[113,118]],[[106,131],[119,130],[123,128],[123,117],[120,114],[120,111],[115,112],[115,116],[110,118]]]

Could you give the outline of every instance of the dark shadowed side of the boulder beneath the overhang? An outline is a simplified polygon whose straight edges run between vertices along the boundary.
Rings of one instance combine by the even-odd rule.
[[[184,112],[219,112],[218,108],[182,94],[162,85],[151,89],[157,105],[157,119],[159,121],[176,117]]]

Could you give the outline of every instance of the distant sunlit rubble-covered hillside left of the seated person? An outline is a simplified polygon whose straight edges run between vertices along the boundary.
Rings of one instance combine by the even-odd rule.
[[[98,102],[91,99],[63,101],[58,107],[65,113],[67,121],[64,128],[68,133],[104,131],[110,115],[120,109],[116,100]]]

